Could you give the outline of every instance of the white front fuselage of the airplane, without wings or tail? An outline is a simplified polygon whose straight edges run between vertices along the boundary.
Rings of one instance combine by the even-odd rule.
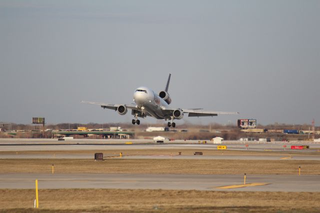
[[[133,100],[141,109],[143,114],[149,114],[156,119],[166,118],[161,110],[161,106],[168,104],[152,89],[140,86],[133,93]]]

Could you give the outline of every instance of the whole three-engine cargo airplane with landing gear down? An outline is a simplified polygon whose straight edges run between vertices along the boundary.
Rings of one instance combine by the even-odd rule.
[[[189,117],[200,116],[217,116],[218,114],[238,114],[239,112],[226,112],[226,111],[204,111],[202,108],[171,108],[171,97],[168,93],[171,74],[169,73],[168,80],[166,82],[165,89],[160,91],[159,94],[155,93],[152,89],[145,86],[140,86],[135,89],[133,93],[133,101],[135,104],[112,104],[112,103],[100,103],[83,101],[82,103],[100,105],[102,108],[113,109],[120,115],[127,113],[128,109],[131,109],[131,114],[134,115],[132,124],[140,124],[138,117],[151,116],[156,119],[170,120],[167,126],[175,127],[174,119],[181,119],[185,113],[188,113]]]

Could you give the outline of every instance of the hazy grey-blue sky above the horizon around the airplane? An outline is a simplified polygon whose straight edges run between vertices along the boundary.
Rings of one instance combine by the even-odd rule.
[[[177,125],[319,125],[319,11],[320,0],[0,0],[0,121],[131,122],[80,100],[131,103],[172,73],[170,106],[240,112]]]

